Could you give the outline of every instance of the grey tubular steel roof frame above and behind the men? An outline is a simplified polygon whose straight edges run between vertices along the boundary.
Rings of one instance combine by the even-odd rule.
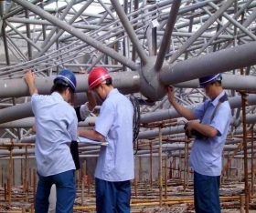
[[[47,5],[45,2],[48,2]],[[65,0],[63,4],[66,5],[59,6],[58,10],[47,8],[54,2],[14,0],[2,15],[1,30],[5,43],[6,66],[1,63],[0,77],[3,84],[0,84],[0,98],[28,95],[25,82],[22,79],[12,78],[20,78],[30,67],[40,76],[48,76],[37,78],[39,91],[48,94],[53,79],[52,69],[58,71],[59,66],[60,68],[69,66],[85,68],[90,72],[93,66],[102,65],[109,67],[112,71],[114,85],[124,89],[126,94],[142,93],[143,96],[155,100],[155,106],[142,106],[142,109],[144,108],[142,122],[152,122],[178,117],[172,107],[167,109],[169,105],[166,104],[164,86],[172,84],[180,88],[176,90],[179,102],[187,107],[193,107],[195,103],[205,98],[205,95],[197,89],[197,78],[227,72],[223,75],[223,87],[233,90],[232,93],[228,91],[229,102],[232,108],[237,109],[237,112],[233,114],[232,124],[238,127],[238,129],[230,128],[230,132],[239,133],[242,122],[241,102],[240,96],[237,96],[234,91],[256,91],[254,67],[256,59],[252,57],[256,51],[256,42],[253,41],[256,38],[253,34],[256,4],[252,0],[246,2],[229,0],[220,5],[215,5],[219,2],[216,0],[191,5],[187,5],[188,1],[181,1],[180,6],[177,2],[168,0],[154,5],[142,4],[136,10],[133,10],[133,2],[130,2],[128,14],[125,13],[119,1],[112,1],[112,5],[106,5],[103,0],[99,1],[97,4],[104,9],[100,14],[88,11],[87,8],[93,0]],[[74,5],[80,5],[80,10],[77,10]],[[172,12],[173,7],[176,13]],[[243,13],[245,13],[245,20],[241,23]],[[55,16],[57,14],[60,15],[59,18]],[[177,19],[176,15],[178,15]],[[219,19],[220,16],[222,20]],[[148,23],[154,19],[157,19],[160,24],[156,31],[158,57],[148,56],[151,50],[148,49],[150,44],[145,36],[145,33],[151,34],[145,31]],[[166,26],[166,23],[171,21],[173,25]],[[5,29],[5,24],[9,25],[10,29]],[[65,32],[69,35],[63,35]],[[19,38],[16,35],[19,35]],[[165,35],[167,35],[166,38]],[[27,52],[16,44],[15,39],[28,43]],[[168,44],[169,39],[170,44]],[[56,42],[59,48],[55,46]],[[7,46],[7,43],[12,47]],[[211,48],[208,48],[210,46]],[[231,47],[228,48],[228,46]],[[126,49],[124,56],[123,49]],[[136,49],[138,55],[138,57],[133,56],[134,61],[131,58],[133,49]],[[170,51],[165,54],[166,49]],[[217,52],[212,52],[214,49]],[[219,51],[219,49],[223,50]],[[8,50],[19,58],[15,65],[10,60]],[[81,63],[79,60],[88,54],[91,55],[89,60]],[[170,64],[165,60],[169,56]],[[105,59],[108,57],[112,57],[118,63],[112,64],[111,60]],[[133,72],[114,71],[114,69],[122,68],[125,70],[126,67],[132,69]],[[241,67],[248,67],[246,71],[248,76],[240,76],[239,72],[233,72]],[[87,77],[87,75],[78,76],[79,92],[88,89]],[[252,105],[247,108],[246,112],[248,124],[255,123],[253,115],[255,99],[255,95],[248,97]],[[7,102],[3,104],[10,105]],[[8,127],[27,129],[33,122],[33,118],[26,117],[31,116],[33,114],[29,102],[0,109],[1,123],[13,121],[9,124],[2,124],[0,127],[5,127],[7,132],[9,132]],[[14,121],[21,118],[23,119]],[[84,127],[86,124],[83,123],[80,126]],[[175,136],[177,132],[181,135],[183,127],[179,125],[164,128],[162,135]],[[26,134],[29,136],[30,132]],[[158,136],[159,129],[140,133],[140,139]],[[165,147],[165,144],[162,147]],[[140,154],[141,157],[146,155],[146,153]]]

